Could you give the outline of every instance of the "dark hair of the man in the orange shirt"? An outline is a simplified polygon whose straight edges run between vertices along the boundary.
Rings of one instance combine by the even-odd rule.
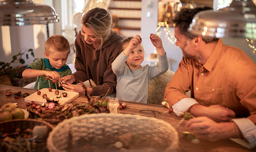
[[[193,9],[184,8],[175,14],[175,17],[172,21],[175,24],[175,27],[180,30],[181,34],[185,35],[189,40],[192,40],[193,38],[197,37],[196,35],[193,35],[188,31],[189,25],[192,22],[193,17],[195,16],[196,13],[202,10],[212,9],[213,8],[210,6],[196,7]],[[218,38],[211,38],[206,36],[201,37],[203,41],[205,41],[206,43],[211,43],[218,40]]]

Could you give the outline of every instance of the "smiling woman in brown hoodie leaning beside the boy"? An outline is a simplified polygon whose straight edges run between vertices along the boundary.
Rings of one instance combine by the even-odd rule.
[[[91,96],[106,94],[109,88],[108,95],[113,94],[116,92],[117,77],[111,64],[119,55],[123,36],[111,29],[111,15],[103,8],[96,7],[87,11],[81,23],[82,30],[75,40],[76,72],[59,80],[69,83],[64,85],[66,91],[84,94],[85,89],[82,86],[72,83],[89,80],[90,87],[86,91]],[[95,83],[94,86],[91,81]]]

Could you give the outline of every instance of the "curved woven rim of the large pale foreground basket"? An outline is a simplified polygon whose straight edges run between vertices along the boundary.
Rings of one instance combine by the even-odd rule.
[[[172,125],[164,120],[158,119],[158,118],[154,118],[154,117],[146,117],[146,116],[141,116],[141,115],[132,115],[132,114],[111,114],[111,113],[99,113],[99,114],[89,114],[89,115],[80,115],[80,116],[76,116],[76,117],[72,117],[70,119],[65,119],[64,121],[60,122],[59,124],[57,124],[57,126],[49,133],[49,136],[47,138],[47,142],[46,142],[46,146],[48,148],[49,151],[60,151],[57,149],[57,147],[55,147],[55,144],[53,143],[55,140],[58,139],[53,139],[54,136],[58,136],[59,131],[60,130],[66,130],[67,129],[71,129],[73,125],[76,125],[76,123],[74,123],[75,121],[80,121],[83,119],[97,119],[97,118],[129,118],[129,120],[134,119],[134,120],[138,120],[138,121],[153,121],[155,123],[161,124],[162,127],[165,127],[168,131],[167,132],[171,132],[172,137],[173,138],[173,142],[170,143],[170,146],[165,150],[165,152],[169,152],[170,150],[176,149],[178,143],[179,143],[179,136],[178,136],[178,132],[176,131],[176,129],[174,127],[172,127]],[[87,124],[85,122],[83,122],[84,124]]]

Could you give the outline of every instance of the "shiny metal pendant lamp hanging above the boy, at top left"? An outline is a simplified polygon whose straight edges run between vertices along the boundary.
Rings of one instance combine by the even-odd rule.
[[[36,4],[26,0],[4,0],[0,2],[0,25],[23,26],[59,22],[52,6]]]

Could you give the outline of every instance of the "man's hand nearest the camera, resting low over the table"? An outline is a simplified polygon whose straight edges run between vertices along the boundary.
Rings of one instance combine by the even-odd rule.
[[[194,130],[196,138],[212,142],[227,138],[242,138],[234,122],[217,123],[207,117],[197,117],[190,119],[186,127]]]

